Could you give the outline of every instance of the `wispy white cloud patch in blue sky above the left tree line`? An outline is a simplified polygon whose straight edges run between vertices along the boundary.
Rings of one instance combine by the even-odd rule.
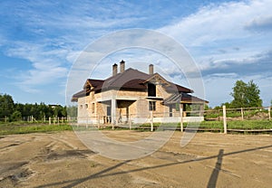
[[[15,42],[15,46],[6,51],[8,56],[31,62],[30,70],[17,70],[13,75],[16,85],[27,92],[38,92],[41,86],[65,78],[68,71],[62,59],[66,53],[59,49],[45,51],[44,45],[27,42]]]

